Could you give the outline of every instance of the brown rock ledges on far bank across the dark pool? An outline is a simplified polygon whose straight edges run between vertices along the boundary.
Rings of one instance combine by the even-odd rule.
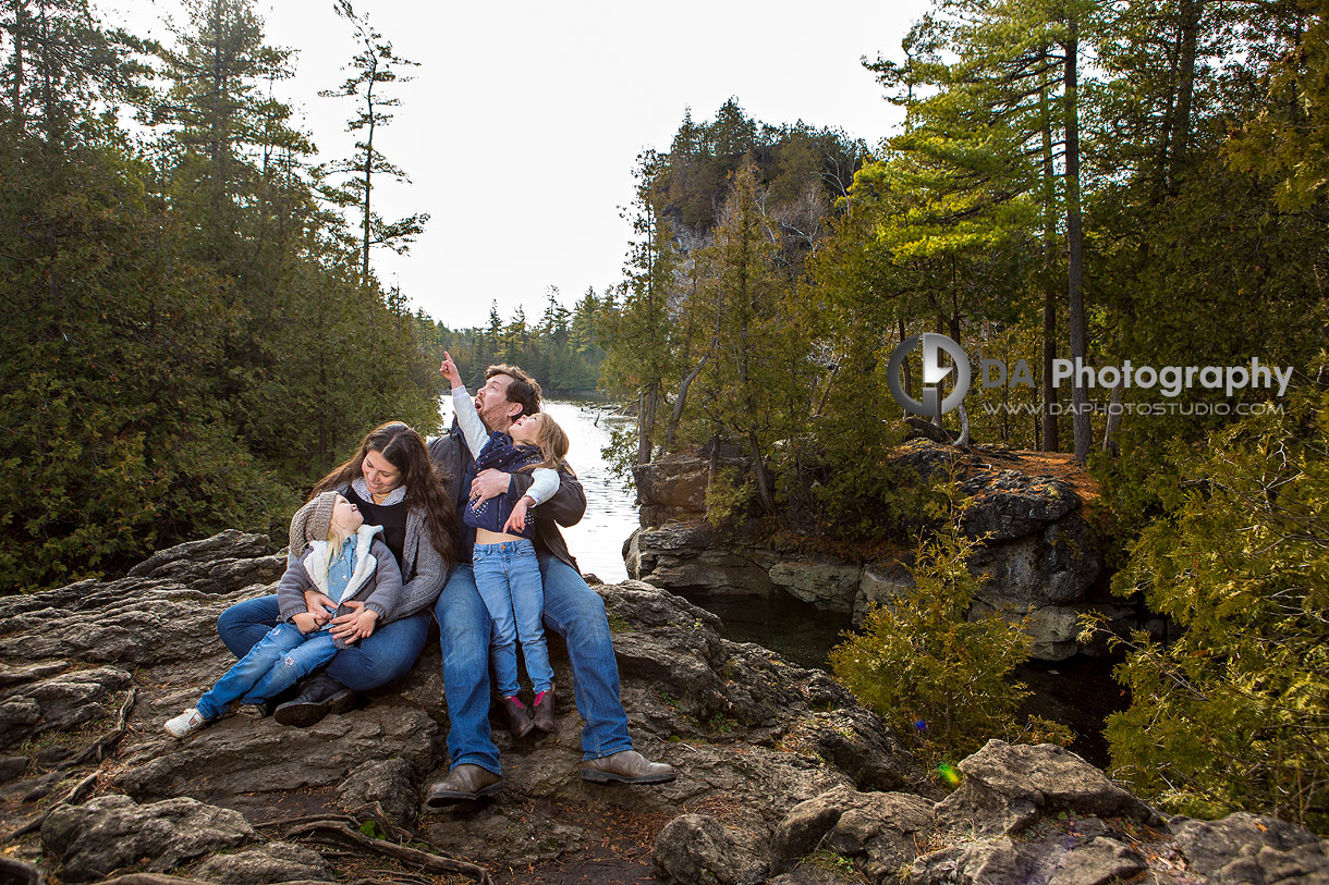
[[[987,536],[970,567],[987,581],[975,607],[1013,619],[1029,615],[1033,656],[1061,660],[1099,648],[1078,642],[1076,618],[1086,610],[1108,615],[1119,629],[1159,629],[1130,605],[1106,593],[1102,542],[1083,517],[1083,501],[1066,480],[999,466],[982,446],[975,454],[916,439],[897,462],[928,477],[950,469],[965,477],[961,494],[971,504],[964,528]],[[734,461],[727,466],[739,466]],[[720,536],[704,520],[710,464],[670,456],[637,470],[642,528],[623,550],[627,573],[684,595],[785,593],[819,609],[861,622],[869,605],[888,603],[913,586],[908,555],[848,562],[807,555]]]

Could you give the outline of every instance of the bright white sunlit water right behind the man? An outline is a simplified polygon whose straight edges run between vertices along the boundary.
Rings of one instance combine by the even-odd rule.
[[[443,425],[452,427],[452,396],[439,400]],[[609,445],[614,423],[631,419],[597,415],[605,407],[599,400],[545,399],[545,411],[567,432],[571,445],[567,462],[586,490],[586,516],[570,529],[563,529],[567,549],[577,558],[583,574],[594,574],[606,583],[627,578],[623,566],[623,542],[637,529],[637,496],[623,489],[599,452]]]

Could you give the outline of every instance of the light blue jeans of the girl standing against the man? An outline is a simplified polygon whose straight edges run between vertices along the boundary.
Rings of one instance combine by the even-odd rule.
[[[549,668],[549,648],[541,626],[545,590],[534,545],[526,538],[477,543],[472,563],[476,589],[492,622],[489,658],[494,664],[498,695],[509,698],[521,690],[517,680],[518,638],[532,690],[536,694],[549,691],[554,684],[554,671]]]

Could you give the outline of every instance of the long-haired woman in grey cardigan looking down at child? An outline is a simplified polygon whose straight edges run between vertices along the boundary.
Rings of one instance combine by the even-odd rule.
[[[323,671],[300,683],[298,696],[272,704],[276,720],[288,726],[312,726],[328,712],[344,712],[356,692],[409,672],[456,554],[456,506],[443,493],[424,440],[400,421],[371,431],[354,456],[319,480],[310,498],[324,492],[346,496],[367,525],[383,526],[383,541],[401,566],[401,599],[389,623],[339,651]],[[323,613],[327,602],[308,593],[306,605],[310,613]],[[331,619],[334,638],[351,634],[355,614]],[[275,595],[249,599],[222,613],[217,633],[231,654],[243,658],[282,619]]]

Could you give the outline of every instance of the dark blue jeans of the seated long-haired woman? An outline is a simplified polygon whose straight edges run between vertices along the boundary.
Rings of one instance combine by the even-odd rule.
[[[243,658],[280,617],[275,595],[237,602],[217,619],[217,635],[233,655]],[[373,691],[393,683],[411,672],[429,638],[431,623],[425,609],[409,618],[377,625],[368,639],[336,652],[324,672],[351,691]]]

